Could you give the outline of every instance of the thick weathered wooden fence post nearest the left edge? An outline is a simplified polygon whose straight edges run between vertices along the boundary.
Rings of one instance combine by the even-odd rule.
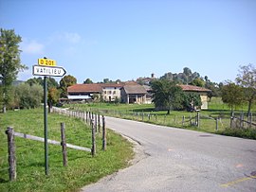
[[[14,143],[14,131],[12,128],[8,128],[6,131],[8,135],[8,152],[9,152],[9,181],[16,180],[16,156],[15,156],[15,143]]]

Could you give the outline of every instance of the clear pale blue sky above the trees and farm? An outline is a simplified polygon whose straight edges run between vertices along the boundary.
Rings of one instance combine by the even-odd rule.
[[[256,64],[255,10],[256,0],[0,0],[0,27],[22,37],[20,80],[46,57],[78,83],[184,67],[223,82]]]

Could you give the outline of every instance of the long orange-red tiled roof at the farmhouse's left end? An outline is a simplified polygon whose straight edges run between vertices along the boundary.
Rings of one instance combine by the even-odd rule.
[[[68,93],[101,93],[100,84],[75,84],[67,87]]]

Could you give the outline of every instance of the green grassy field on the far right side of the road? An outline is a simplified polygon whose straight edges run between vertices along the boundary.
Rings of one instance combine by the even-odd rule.
[[[172,111],[170,114],[167,114],[166,111],[156,112],[154,104],[88,103],[69,104],[64,107],[77,111],[90,111],[119,118],[143,121],[156,125],[256,139],[255,129],[242,131],[229,129],[230,109],[227,104],[222,102],[221,97],[212,97],[209,102],[209,110],[202,110],[199,112],[199,127],[195,125],[196,113],[185,111]],[[237,107],[234,114],[238,116],[241,112],[247,112],[247,104]],[[253,106],[252,112],[256,112],[255,106]],[[256,121],[255,114],[253,114],[253,116],[254,121]],[[217,118],[218,124],[216,123]]]

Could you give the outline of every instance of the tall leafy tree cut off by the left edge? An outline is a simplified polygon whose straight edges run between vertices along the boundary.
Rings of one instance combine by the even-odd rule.
[[[9,102],[9,89],[12,82],[17,78],[19,71],[27,69],[21,64],[19,44],[22,39],[14,30],[0,29],[0,80],[1,95],[3,95],[3,111]]]

